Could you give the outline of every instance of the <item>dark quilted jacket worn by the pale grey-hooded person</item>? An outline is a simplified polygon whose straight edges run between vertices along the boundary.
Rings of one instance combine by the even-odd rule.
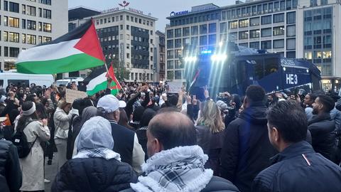
[[[51,191],[121,191],[136,181],[129,164],[116,159],[77,158],[60,168]]]

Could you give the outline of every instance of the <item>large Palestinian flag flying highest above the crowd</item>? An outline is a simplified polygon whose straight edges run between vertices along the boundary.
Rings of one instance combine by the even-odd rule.
[[[56,74],[104,65],[104,56],[92,19],[70,33],[22,51],[18,73]]]

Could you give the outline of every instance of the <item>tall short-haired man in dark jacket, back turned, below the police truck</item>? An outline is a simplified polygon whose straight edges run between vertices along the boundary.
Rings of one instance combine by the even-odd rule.
[[[251,191],[251,183],[260,171],[270,166],[276,154],[266,129],[265,91],[259,85],[247,87],[245,110],[225,129],[222,146],[221,176],[240,191]]]

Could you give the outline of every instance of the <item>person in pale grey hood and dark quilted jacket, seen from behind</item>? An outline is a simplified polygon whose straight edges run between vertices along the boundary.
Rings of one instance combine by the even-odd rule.
[[[136,183],[131,166],[112,151],[112,127],[107,119],[92,117],[85,122],[75,144],[78,154],[60,168],[53,192],[121,191]]]

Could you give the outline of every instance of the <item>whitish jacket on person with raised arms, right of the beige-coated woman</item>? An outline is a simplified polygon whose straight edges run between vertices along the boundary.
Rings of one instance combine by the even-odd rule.
[[[66,114],[64,110],[57,107],[55,114],[53,115],[53,122],[55,122],[55,139],[67,139],[71,118],[71,112]]]

